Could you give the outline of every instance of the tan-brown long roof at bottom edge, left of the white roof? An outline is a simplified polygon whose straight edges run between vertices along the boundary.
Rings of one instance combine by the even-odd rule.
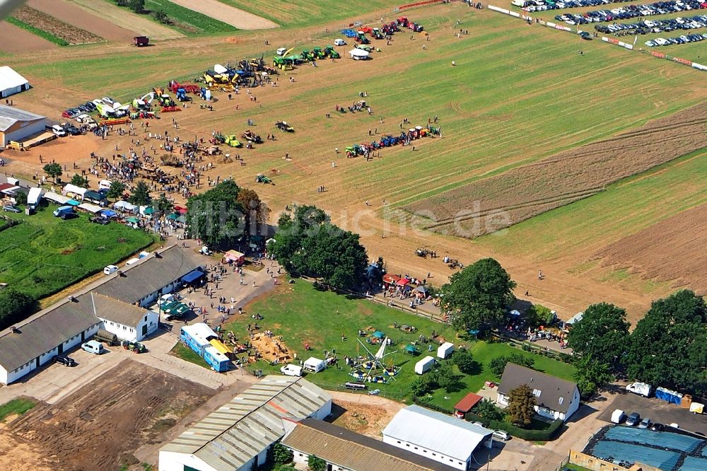
[[[300,421],[282,443],[302,453],[317,455],[329,463],[355,471],[452,471],[455,469],[317,419]]]

